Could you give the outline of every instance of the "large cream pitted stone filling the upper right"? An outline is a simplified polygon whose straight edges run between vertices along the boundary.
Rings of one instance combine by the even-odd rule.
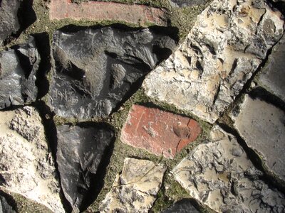
[[[145,93],[214,123],[283,30],[281,13],[266,1],[212,1],[175,53],[147,75]]]

